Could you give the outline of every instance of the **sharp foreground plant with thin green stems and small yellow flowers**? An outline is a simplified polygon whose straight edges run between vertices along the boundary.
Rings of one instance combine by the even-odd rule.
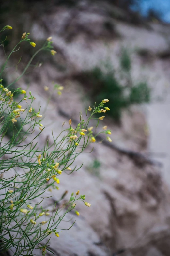
[[[12,27],[5,26],[2,30],[5,29]],[[9,54],[0,72],[0,253],[9,251],[12,256],[35,255],[35,249],[41,249],[42,255],[45,255],[46,251],[52,252],[49,247],[49,235],[53,234],[56,239],[59,237],[65,215],[73,210],[79,216],[76,210],[78,201],[90,207],[90,203],[85,202],[85,195],[79,195],[79,190],[71,193],[70,199],[63,204],[61,201],[66,196],[66,191],[52,205],[48,205],[48,197],[44,196],[44,192],[59,189],[62,172],[71,174],[81,168],[74,166],[74,161],[90,143],[96,142],[98,134],[111,134],[105,126],[93,136],[93,127],[89,127],[90,120],[97,120],[94,125],[96,127],[99,121],[103,120],[104,116],[95,118],[94,114],[106,113],[107,107],[104,107],[104,104],[109,100],[104,99],[99,106],[94,105],[93,108],[86,109],[86,121],[80,113],[80,122],[76,127],[72,127],[70,119],[66,128],[63,128],[63,124],[58,136],[53,136],[53,143],[49,144],[47,141],[42,149],[38,148],[39,135],[45,133],[45,127],[41,123],[43,113],[40,107],[35,111],[35,97],[31,92],[27,94],[22,88],[8,88],[14,83],[17,84],[37,53],[45,50],[55,55],[51,37],[35,52],[15,81],[4,87],[2,78],[9,57],[19,44],[27,41],[31,46],[36,46],[34,42],[30,42],[28,36],[29,33],[23,33],[21,41]],[[57,84],[55,87],[59,92],[63,89]],[[44,89],[48,90],[47,87]],[[6,137],[9,127],[10,136]],[[36,132],[37,130],[39,132]],[[108,136],[107,140],[111,142]],[[45,208],[42,206],[43,201]]]

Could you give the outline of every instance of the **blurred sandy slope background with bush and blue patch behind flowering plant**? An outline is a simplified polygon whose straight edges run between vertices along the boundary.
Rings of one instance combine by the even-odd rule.
[[[13,27],[0,36],[7,55],[24,32],[35,48],[53,37],[57,54],[41,52],[15,84],[31,90],[35,109],[46,113],[42,145],[52,128],[57,135],[70,118],[76,126],[79,111],[85,115],[85,107],[109,99],[99,126],[108,126],[112,142],[99,136],[93,152],[78,158],[81,170],[48,192],[55,201],[66,188],[79,189],[92,205],[78,205],[75,225],[51,238],[54,255],[169,256],[170,1],[6,0],[0,1],[5,25]],[[4,86],[35,51],[24,42],[12,54]],[[4,60],[0,47],[0,65]],[[55,84],[64,86],[61,95]]]

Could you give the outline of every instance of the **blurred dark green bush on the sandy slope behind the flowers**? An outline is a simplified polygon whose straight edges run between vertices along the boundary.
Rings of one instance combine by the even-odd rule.
[[[106,71],[100,67],[84,71],[77,79],[88,87],[88,97],[91,102],[95,98],[101,102],[109,99],[107,112],[117,123],[120,123],[123,109],[133,104],[148,103],[150,101],[150,88],[146,81],[133,83],[131,78],[131,58],[126,49],[122,50],[120,57],[120,71],[106,65]],[[119,73],[119,77],[117,76]]]

